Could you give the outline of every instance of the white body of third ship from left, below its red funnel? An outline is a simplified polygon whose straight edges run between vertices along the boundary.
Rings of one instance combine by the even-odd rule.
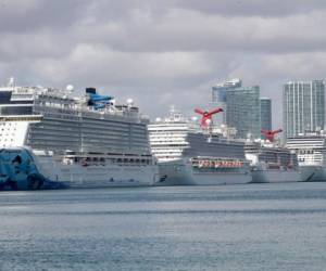
[[[250,160],[252,182],[298,182],[302,175],[294,152],[269,141],[246,143],[246,158]]]

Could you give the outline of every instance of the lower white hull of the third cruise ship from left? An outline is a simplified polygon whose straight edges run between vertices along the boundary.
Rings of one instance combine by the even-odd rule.
[[[278,183],[303,181],[299,170],[255,169],[252,170],[253,183]]]

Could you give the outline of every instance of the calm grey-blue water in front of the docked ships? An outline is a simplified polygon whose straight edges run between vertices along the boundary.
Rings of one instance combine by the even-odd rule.
[[[0,270],[326,270],[326,183],[3,192]]]

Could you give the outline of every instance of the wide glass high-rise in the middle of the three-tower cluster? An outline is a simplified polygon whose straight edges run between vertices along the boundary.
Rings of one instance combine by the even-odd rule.
[[[226,124],[237,129],[237,138],[261,138],[260,87],[226,91]]]

